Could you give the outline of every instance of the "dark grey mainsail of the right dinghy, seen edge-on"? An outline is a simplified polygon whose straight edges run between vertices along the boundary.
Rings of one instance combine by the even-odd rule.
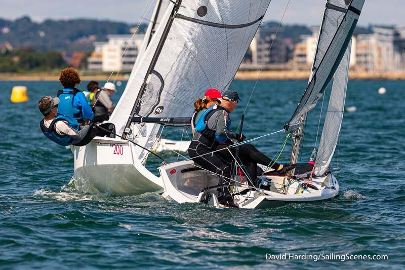
[[[294,129],[301,116],[315,107],[347,49],[365,0],[328,0],[320,28],[310,82],[289,121]]]

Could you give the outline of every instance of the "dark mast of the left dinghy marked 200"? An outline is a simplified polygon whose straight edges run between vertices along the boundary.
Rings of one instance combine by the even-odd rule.
[[[167,35],[169,33],[170,27],[172,26],[173,20],[174,20],[174,18],[176,16],[177,12],[179,11],[181,2],[182,2],[182,0],[176,0],[176,3],[174,4],[174,7],[173,7],[172,15],[170,16],[170,18],[169,18],[169,20],[168,20],[168,22],[167,22],[167,24],[165,26],[165,29],[163,31],[163,34],[160,37],[160,40],[159,40],[159,43],[157,45],[156,51],[155,51],[155,53],[153,55],[152,61],[150,62],[148,71],[146,72],[145,78],[143,80],[143,83],[142,83],[142,86],[141,86],[140,91],[138,93],[138,96],[137,96],[137,98],[135,100],[134,106],[131,109],[131,113],[130,113],[130,116],[128,118],[127,124],[125,125],[124,138],[127,138],[127,136],[129,134],[131,134],[130,126],[131,126],[131,123],[132,123],[132,121],[131,121],[132,116],[133,116],[133,114],[134,114],[134,112],[136,110],[136,107],[138,106],[138,103],[139,103],[139,100],[140,100],[140,98],[142,96],[142,93],[145,90],[147,80],[148,80],[148,78],[150,76],[150,73],[152,72],[152,70],[153,70],[153,68],[154,68],[154,66],[156,64],[157,58],[158,58],[158,56],[159,56],[159,54],[161,52],[161,48],[163,48],[163,45],[165,44],[166,37],[167,37]],[[159,2],[159,4],[161,4],[161,2]],[[156,14],[158,14],[158,13],[156,13]],[[149,42],[150,42],[150,40],[149,40]]]

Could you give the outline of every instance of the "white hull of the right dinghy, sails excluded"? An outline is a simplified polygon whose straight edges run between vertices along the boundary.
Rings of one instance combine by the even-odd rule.
[[[199,170],[194,166],[192,161],[181,161],[159,167],[161,177],[165,185],[164,196],[170,197],[178,203],[198,203],[201,202],[201,197],[204,196],[200,192],[202,188],[214,186],[218,184],[218,178],[205,170]],[[339,193],[339,183],[332,174],[322,177],[313,178],[309,183],[318,188],[302,188],[305,181],[289,180],[285,176],[270,176],[271,183],[274,188],[270,191],[249,191],[245,195],[239,195],[246,185],[239,184],[237,190],[233,193],[234,202],[240,208],[262,209],[283,206],[288,203],[304,203],[322,201],[335,197]],[[238,179],[242,182],[242,179]],[[245,180],[246,181],[246,180]],[[280,188],[284,185],[288,187],[279,192],[275,188]],[[216,191],[207,191],[210,193],[211,199],[208,204],[221,208],[216,199]],[[215,198],[214,198],[215,197]]]

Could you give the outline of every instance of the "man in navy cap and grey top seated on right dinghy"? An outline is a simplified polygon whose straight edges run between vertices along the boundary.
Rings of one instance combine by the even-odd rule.
[[[188,154],[194,162],[201,165],[204,169],[220,175],[219,184],[229,182],[229,179],[231,179],[230,167],[234,162],[235,151],[234,148],[231,149],[232,156],[228,151],[228,146],[233,144],[232,140],[241,142],[246,139],[243,134],[234,133],[230,130],[231,119],[229,114],[235,110],[239,101],[240,98],[236,91],[225,91],[222,95],[221,104],[216,108],[207,109],[199,118],[195,125],[197,132],[188,148]],[[285,174],[296,167],[295,164],[284,166],[273,162],[252,144],[240,145],[238,158],[246,166],[253,184],[256,184],[257,181],[258,163],[269,164],[272,169],[280,174]],[[220,203],[233,206],[230,191],[227,188],[220,191],[222,191],[222,194],[218,198]]]

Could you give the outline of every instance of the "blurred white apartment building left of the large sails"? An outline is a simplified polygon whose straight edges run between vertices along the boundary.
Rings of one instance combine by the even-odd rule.
[[[107,35],[107,42],[95,42],[94,52],[87,59],[89,70],[129,71],[142,46],[144,34]],[[132,38],[132,40],[131,40]],[[124,53],[125,52],[125,53]]]

